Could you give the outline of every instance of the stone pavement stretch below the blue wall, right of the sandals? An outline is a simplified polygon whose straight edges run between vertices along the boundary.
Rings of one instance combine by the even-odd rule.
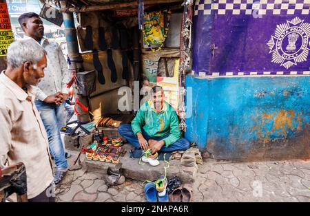
[[[310,202],[310,161],[207,160],[194,183],[200,202]]]

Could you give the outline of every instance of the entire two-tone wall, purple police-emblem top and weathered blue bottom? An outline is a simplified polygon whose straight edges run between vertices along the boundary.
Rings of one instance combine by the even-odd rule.
[[[196,1],[186,138],[218,159],[309,158],[309,11],[309,0]]]

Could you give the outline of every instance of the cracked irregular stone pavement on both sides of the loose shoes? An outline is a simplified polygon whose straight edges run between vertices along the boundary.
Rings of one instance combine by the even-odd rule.
[[[168,169],[169,172],[169,169]],[[143,182],[108,187],[104,174],[68,171],[57,202],[146,202]],[[205,160],[192,185],[194,202],[310,202],[310,160],[232,163]]]

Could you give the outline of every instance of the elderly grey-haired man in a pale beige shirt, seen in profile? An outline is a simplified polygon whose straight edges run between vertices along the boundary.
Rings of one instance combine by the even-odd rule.
[[[36,41],[15,41],[7,61],[0,74],[0,166],[23,162],[29,202],[54,202],[48,136],[32,87],[44,77],[46,52]]]

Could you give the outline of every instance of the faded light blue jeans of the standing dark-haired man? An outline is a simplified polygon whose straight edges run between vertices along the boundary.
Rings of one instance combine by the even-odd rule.
[[[35,104],[40,112],[46,133],[48,133],[50,153],[54,157],[57,169],[67,169],[68,162],[65,159],[65,149],[63,148],[60,133],[61,127],[65,127],[66,112],[64,104],[57,106],[41,100],[36,100]]]

